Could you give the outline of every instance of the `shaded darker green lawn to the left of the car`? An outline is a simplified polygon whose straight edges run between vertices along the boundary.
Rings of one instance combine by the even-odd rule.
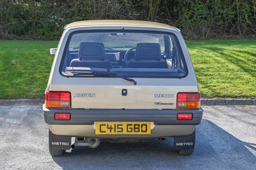
[[[57,41],[0,40],[0,99],[43,99]]]

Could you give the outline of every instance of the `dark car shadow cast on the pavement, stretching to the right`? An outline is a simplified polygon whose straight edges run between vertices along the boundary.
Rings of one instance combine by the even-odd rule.
[[[178,155],[169,138],[132,144],[103,141],[97,148],[75,148],[53,160],[63,169],[256,169],[255,148],[255,143],[245,143],[204,119],[189,157]]]

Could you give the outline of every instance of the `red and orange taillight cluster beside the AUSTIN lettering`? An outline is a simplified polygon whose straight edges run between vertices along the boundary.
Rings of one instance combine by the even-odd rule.
[[[70,108],[70,92],[47,91],[45,94],[46,108]]]

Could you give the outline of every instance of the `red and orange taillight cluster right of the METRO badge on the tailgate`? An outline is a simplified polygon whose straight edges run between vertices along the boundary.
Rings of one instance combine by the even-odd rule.
[[[177,105],[179,109],[199,109],[200,93],[182,92],[177,94]]]

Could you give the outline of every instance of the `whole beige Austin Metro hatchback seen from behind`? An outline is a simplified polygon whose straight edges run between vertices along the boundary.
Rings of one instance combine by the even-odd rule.
[[[43,110],[52,156],[95,148],[100,139],[174,138],[173,150],[193,153],[203,110],[179,29],[135,20],[74,22],[50,53]]]

